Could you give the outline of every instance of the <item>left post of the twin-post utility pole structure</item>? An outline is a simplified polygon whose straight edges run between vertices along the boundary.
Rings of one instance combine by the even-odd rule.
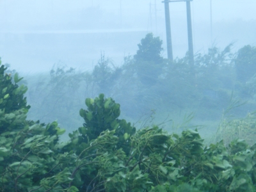
[[[168,60],[173,61],[169,1],[164,0],[162,3],[164,3],[164,12],[165,12],[167,56],[168,56]]]

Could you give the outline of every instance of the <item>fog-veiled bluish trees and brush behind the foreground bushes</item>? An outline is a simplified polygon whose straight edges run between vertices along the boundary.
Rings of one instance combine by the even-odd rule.
[[[26,97],[31,104],[28,116],[45,123],[58,119],[61,127],[71,132],[81,125],[76,111],[84,104],[84,98],[104,93],[115,98],[121,106],[122,118],[129,122],[143,122],[154,110],[156,124],[168,115],[181,123],[184,115],[194,112],[191,124],[211,125],[215,130],[231,97],[248,103],[229,115],[243,117],[256,108],[255,76],[245,75],[246,81],[239,80],[240,72],[254,73],[250,66],[256,55],[255,47],[246,45],[237,52],[232,52],[232,47],[211,47],[196,54],[193,73],[188,55],[172,63],[164,59],[162,41],[152,34],[141,39],[136,54],[125,57],[124,63],[115,63],[104,54],[88,72],[57,63],[49,74],[26,77]],[[172,125],[167,126],[171,131]]]

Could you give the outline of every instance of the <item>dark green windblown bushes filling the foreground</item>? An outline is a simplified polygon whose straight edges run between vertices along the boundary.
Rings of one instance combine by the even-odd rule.
[[[83,127],[63,143],[57,122],[26,119],[26,86],[4,70],[0,191],[256,191],[256,145],[234,140],[205,147],[196,130],[169,134],[156,125],[136,131],[103,94],[85,100]]]

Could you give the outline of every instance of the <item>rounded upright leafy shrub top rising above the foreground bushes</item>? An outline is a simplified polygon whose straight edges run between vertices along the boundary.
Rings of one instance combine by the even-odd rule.
[[[104,99],[104,94],[100,94],[95,99],[86,99],[85,104],[88,110],[80,109],[79,111],[84,119],[83,127],[78,129],[81,134],[79,143],[89,143],[95,140],[102,131],[115,131],[115,136],[118,137],[118,147],[129,152],[130,136],[134,134],[135,127],[125,120],[118,119],[120,105],[111,98]]]

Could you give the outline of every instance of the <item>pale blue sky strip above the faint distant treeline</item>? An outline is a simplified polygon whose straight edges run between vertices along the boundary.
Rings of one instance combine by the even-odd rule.
[[[191,2],[193,19],[209,20],[210,0],[194,0]],[[152,12],[157,9],[157,15],[164,14],[164,6],[160,1],[140,0],[0,0],[0,24],[6,25],[27,25],[27,24],[47,24],[51,22],[68,22],[77,19],[79,13],[91,6],[99,6],[102,10],[115,13],[127,19],[129,15],[138,14],[149,15],[150,3]],[[156,3],[156,7],[155,4]],[[186,3],[170,3],[172,18],[186,17]],[[212,19],[256,19],[255,0],[212,0]],[[61,20],[63,19],[63,20]]]

